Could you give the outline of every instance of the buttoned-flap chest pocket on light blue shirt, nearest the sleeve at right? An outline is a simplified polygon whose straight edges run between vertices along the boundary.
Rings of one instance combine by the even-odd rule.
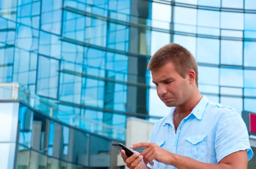
[[[207,135],[191,135],[186,138],[184,155],[195,160],[200,160],[207,155]]]

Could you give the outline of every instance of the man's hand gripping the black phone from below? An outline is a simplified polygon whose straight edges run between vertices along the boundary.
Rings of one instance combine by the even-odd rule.
[[[143,156],[139,152],[135,152],[131,157],[125,154],[125,150],[121,150],[121,156],[129,169],[147,169],[143,162]]]

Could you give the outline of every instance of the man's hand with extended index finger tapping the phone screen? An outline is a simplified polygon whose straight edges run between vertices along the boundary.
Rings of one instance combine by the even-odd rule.
[[[164,163],[166,165],[171,165],[171,161],[173,160],[173,153],[167,151],[166,149],[157,146],[154,143],[138,143],[131,145],[131,149],[144,147],[146,148],[141,155],[143,155],[143,160],[145,164],[150,164],[151,166],[154,165],[152,162],[154,159],[160,163]]]

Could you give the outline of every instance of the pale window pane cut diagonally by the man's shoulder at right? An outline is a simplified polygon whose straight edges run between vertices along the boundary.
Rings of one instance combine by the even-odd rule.
[[[232,98],[232,97],[221,96],[221,104],[223,104],[224,106],[235,108],[240,115],[243,111],[242,98]]]

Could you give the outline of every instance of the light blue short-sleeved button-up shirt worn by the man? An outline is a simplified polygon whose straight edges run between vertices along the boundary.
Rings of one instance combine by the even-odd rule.
[[[218,164],[222,158],[239,150],[247,150],[248,161],[253,157],[246,125],[231,107],[209,101],[204,96],[192,112],[184,118],[175,133],[173,108],[169,115],[153,127],[148,142],[169,152],[197,161]],[[153,169],[175,169],[153,161]]]

